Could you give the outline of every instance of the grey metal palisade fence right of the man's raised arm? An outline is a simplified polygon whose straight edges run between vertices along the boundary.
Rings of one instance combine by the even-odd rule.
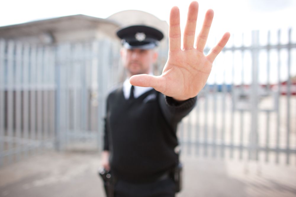
[[[183,154],[296,162],[296,43],[286,33],[233,35],[180,125]]]

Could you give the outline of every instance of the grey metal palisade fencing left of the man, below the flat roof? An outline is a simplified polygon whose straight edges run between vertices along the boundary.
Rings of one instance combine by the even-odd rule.
[[[47,149],[101,148],[104,97],[119,80],[114,45],[0,41],[0,165]]]

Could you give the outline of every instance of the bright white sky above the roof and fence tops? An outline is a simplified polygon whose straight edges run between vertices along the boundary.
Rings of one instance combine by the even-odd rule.
[[[151,13],[168,22],[170,9],[178,6],[181,28],[184,28],[187,9],[192,0],[9,0],[2,1],[0,26],[39,19],[85,14],[106,18],[116,12],[136,9]],[[296,18],[295,0],[200,0],[197,28],[200,28],[207,9],[215,12],[212,31],[241,32],[256,29],[292,27]]]

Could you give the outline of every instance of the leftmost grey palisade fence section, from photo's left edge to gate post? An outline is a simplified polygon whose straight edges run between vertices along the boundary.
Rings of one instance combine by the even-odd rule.
[[[54,51],[0,41],[0,164],[53,146]]]

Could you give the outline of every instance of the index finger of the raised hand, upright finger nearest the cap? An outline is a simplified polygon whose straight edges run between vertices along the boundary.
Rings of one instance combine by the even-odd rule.
[[[170,10],[169,51],[181,50],[180,11],[174,6]]]

